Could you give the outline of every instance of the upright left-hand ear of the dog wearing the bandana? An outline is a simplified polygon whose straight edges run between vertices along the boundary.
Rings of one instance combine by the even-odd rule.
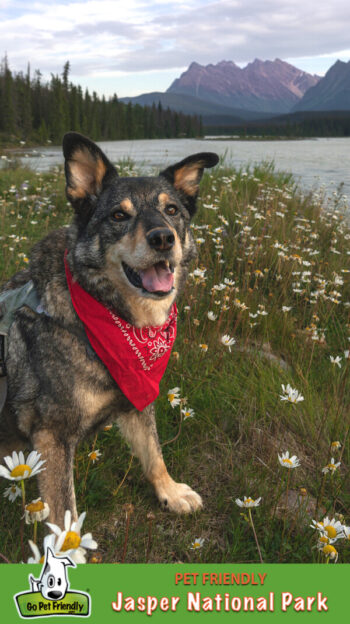
[[[102,150],[78,132],[64,135],[63,154],[67,198],[78,211],[86,199],[99,195],[104,184],[118,176]]]

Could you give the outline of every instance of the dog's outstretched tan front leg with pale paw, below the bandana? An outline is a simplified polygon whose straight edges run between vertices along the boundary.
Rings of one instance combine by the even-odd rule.
[[[118,418],[118,426],[141,461],[147,479],[165,509],[190,513],[202,507],[202,499],[185,483],[176,483],[169,475],[158,441],[153,406],[143,412],[130,412]]]

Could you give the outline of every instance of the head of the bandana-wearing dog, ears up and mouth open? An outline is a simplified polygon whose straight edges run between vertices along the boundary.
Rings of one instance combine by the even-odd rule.
[[[119,177],[92,141],[63,139],[66,193],[76,218],[68,260],[94,297],[141,327],[161,325],[195,255],[190,220],[216,154],[194,154],[158,177]]]

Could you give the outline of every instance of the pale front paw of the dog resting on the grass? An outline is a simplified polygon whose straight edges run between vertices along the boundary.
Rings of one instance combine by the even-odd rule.
[[[175,513],[192,513],[203,507],[199,494],[186,483],[176,483],[169,477],[166,482],[156,485],[157,496],[163,509]]]

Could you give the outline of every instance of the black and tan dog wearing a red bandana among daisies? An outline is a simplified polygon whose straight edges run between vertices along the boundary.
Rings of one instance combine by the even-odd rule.
[[[28,445],[41,453],[40,494],[50,521],[63,526],[65,510],[77,519],[77,444],[116,421],[161,505],[196,511],[201,497],[166,469],[153,401],[176,332],[175,300],[196,255],[190,223],[199,183],[218,156],[194,154],[155,177],[119,177],[102,150],[79,133],[64,136],[63,153],[73,222],[37,243],[29,268],[2,289],[31,280],[40,306],[18,309],[9,331],[0,457]],[[79,305],[88,320],[81,320]],[[101,332],[95,308],[108,317]],[[120,355],[118,347],[111,356],[110,332],[117,330],[129,351]],[[130,358],[135,371],[133,365],[123,369]],[[162,361],[163,370],[157,369]]]

